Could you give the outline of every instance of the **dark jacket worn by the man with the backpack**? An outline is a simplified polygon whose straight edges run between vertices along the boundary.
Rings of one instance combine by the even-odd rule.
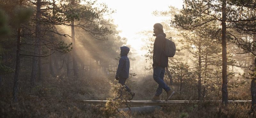
[[[162,34],[163,36],[160,36]],[[154,34],[156,36],[153,50],[153,66],[168,67],[168,56],[164,54],[164,46],[166,42],[166,34],[163,31]]]

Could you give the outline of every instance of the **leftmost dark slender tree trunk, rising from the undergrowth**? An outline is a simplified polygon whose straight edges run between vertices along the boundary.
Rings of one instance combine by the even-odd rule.
[[[21,7],[22,0],[20,0]],[[21,25],[19,24],[17,31],[17,51],[16,51],[16,66],[15,66],[15,75],[13,79],[13,92],[12,100],[13,102],[18,102],[18,82],[19,82],[19,72],[20,72],[20,39],[21,39]]]

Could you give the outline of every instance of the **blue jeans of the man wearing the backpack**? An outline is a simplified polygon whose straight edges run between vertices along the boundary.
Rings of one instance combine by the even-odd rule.
[[[168,87],[164,83],[164,72],[165,72],[165,68],[163,68],[162,66],[156,66],[155,68],[153,68],[153,78],[158,84],[158,88],[156,89],[156,94],[155,94],[156,96],[160,96],[161,93],[163,92],[163,89],[166,92],[171,90],[170,87]]]

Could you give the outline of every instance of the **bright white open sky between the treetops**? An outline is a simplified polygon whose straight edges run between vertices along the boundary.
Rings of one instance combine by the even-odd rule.
[[[136,51],[140,51],[143,45],[141,31],[152,30],[155,23],[160,23],[163,19],[152,15],[153,11],[165,11],[169,6],[182,8],[182,0],[98,0],[105,3],[108,8],[116,10],[111,17],[117,30],[122,31],[119,35],[127,38],[127,45],[131,45]],[[145,52],[145,51],[144,51]]]

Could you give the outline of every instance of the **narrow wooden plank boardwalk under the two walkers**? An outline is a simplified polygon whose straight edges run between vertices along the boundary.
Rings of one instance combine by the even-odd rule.
[[[84,104],[106,104],[107,100],[82,100]],[[191,102],[221,102],[221,100],[169,100],[169,101],[151,101],[151,100],[131,100],[128,101],[131,105],[143,105],[143,106],[167,106],[172,103],[191,103]],[[228,100],[230,103],[246,103],[252,102],[252,100]]]

